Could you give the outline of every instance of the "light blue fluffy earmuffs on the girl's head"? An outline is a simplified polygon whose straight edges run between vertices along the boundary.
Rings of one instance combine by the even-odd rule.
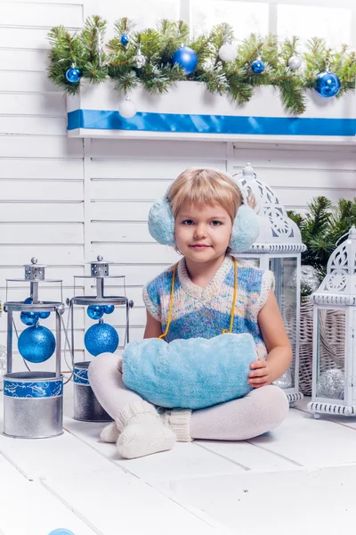
[[[211,170],[216,171],[218,169]],[[219,172],[221,173],[222,171]],[[257,214],[255,213],[255,210],[248,206],[246,193],[239,185],[239,182],[228,173],[223,172],[223,174],[230,177],[239,187],[243,200],[243,204],[239,207],[237,216],[232,225],[229,247],[232,252],[244,252],[251,247],[259,234]],[[158,243],[174,247],[174,216],[167,193],[164,197],[158,199],[150,209],[149,231],[150,235]]]

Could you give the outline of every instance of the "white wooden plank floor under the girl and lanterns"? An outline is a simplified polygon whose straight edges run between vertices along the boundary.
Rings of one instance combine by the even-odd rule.
[[[3,396],[0,402],[2,426]],[[335,535],[356,528],[356,418],[314,420],[300,402],[275,432],[199,440],[121,459],[104,424],[72,419],[48,440],[0,435],[0,533]],[[1,430],[2,431],[2,430]]]

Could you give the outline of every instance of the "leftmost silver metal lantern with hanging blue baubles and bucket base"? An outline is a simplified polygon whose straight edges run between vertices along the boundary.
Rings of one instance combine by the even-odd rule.
[[[24,266],[24,279],[6,280],[7,313],[7,373],[4,374],[4,435],[15,438],[41,439],[63,432],[63,377],[61,375],[61,315],[62,281],[45,279],[45,266],[35,258]],[[22,301],[7,299],[9,283],[29,283],[29,298]],[[61,301],[42,301],[39,285],[59,284]],[[55,371],[12,372],[13,313],[20,312],[23,323],[29,325],[19,337],[19,350],[28,362],[44,362],[51,357],[55,347]],[[55,336],[39,325],[40,318],[55,314]],[[17,333],[17,331],[16,331]]]

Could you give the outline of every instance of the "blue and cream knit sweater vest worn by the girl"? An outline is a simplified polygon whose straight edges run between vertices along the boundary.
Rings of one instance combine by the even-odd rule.
[[[174,266],[158,275],[143,287],[143,301],[151,316],[166,330]],[[177,338],[213,338],[230,328],[234,292],[234,266],[227,255],[214,277],[201,288],[193,284],[187,273],[185,259],[178,263],[174,283],[174,305],[166,342]],[[232,333],[250,333],[259,358],[267,350],[257,322],[271,289],[274,276],[247,261],[238,260],[238,295]]]

